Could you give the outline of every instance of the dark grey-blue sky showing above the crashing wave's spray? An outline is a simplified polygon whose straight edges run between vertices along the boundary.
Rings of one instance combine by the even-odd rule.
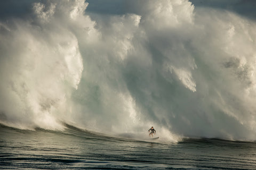
[[[25,1],[2,1],[0,6],[0,17],[19,17],[31,12],[31,3],[34,0]],[[87,12],[105,13],[105,14],[125,14],[133,12],[133,7],[129,5],[129,0],[87,0],[90,3]],[[131,2],[131,1],[130,1]],[[250,19],[255,19],[254,10],[256,2],[253,0],[191,0],[196,7],[211,7],[229,10],[244,15]]]

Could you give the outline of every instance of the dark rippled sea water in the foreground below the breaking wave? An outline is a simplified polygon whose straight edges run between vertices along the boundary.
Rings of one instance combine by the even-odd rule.
[[[178,143],[66,131],[0,128],[1,169],[255,169],[256,143],[183,139]]]

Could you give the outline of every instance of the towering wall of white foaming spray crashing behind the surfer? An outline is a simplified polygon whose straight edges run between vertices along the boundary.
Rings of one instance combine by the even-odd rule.
[[[88,5],[1,18],[0,123],[256,140],[253,20],[185,0],[127,1],[122,15]]]

